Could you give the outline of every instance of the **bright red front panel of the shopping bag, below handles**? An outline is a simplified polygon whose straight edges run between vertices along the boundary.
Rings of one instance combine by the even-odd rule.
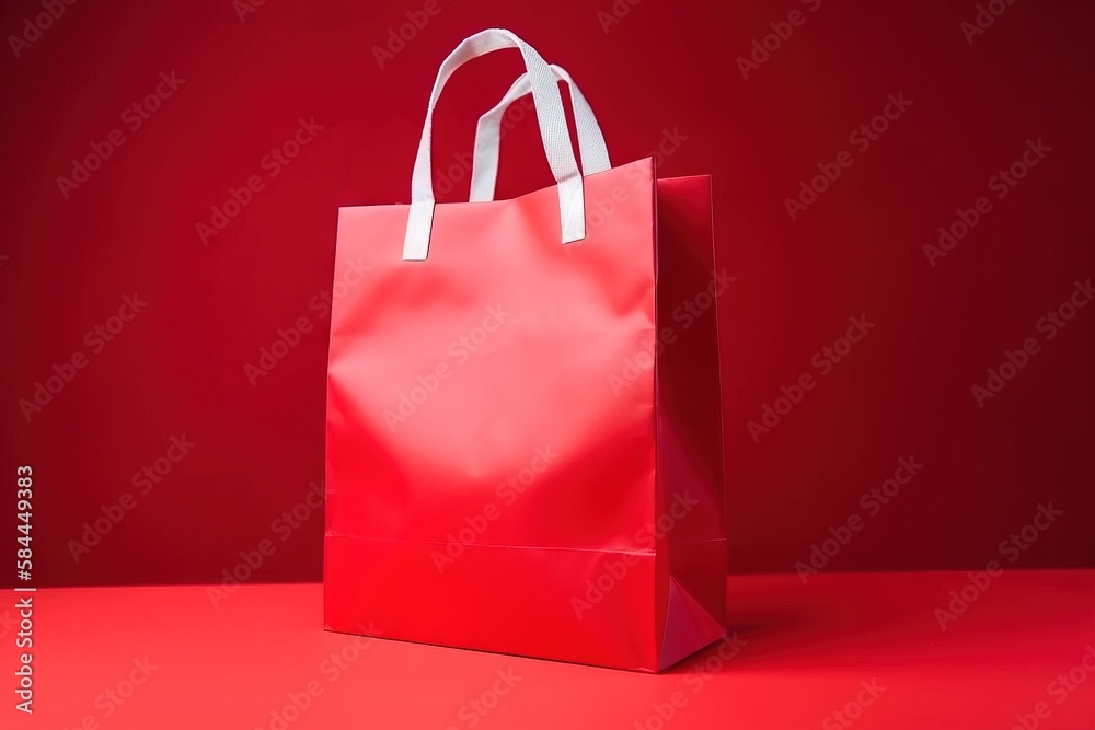
[[[405,206],[339,211],[335,279],[368,271],[332,314],[332,628],[656,663],[654,379],[634,362],[655,318],[653,161],[584,184],[568,246],[554,187],[438,205],[425,262],[401,260]]]

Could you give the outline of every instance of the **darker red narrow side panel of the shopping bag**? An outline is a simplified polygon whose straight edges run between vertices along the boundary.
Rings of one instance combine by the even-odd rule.
[[[659,531],[668,559],[659,668],[726,634],[726,529],[711,178],[658,181],[655,350]],[[661,578],[662,573],[658,573]]]

